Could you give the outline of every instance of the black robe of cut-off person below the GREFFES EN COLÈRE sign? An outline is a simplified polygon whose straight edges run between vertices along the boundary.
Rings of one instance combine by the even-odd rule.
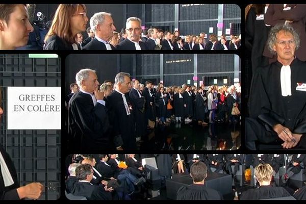
[[[19,182],[17,179],[17,172],[14,167],[14,163],[11,160],[10,156],[4,150],[4,148],[0,145],[0,152],[4,158],[4,161],[11,173],[14,184],[8,187],[4,186],[4,181],[2,178],[2,172],[0,168],[0,200],[19,200],[19,196],[17,193],[17,188],[19,188]]]

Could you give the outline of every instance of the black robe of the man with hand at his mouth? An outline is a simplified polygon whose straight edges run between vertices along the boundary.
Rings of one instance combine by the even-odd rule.
[[[68,108],[68,132],[71,136],[68,144],[74,149],[98,150],[114,149],[109,138],[109,119],[106,107],[93,105],[89,94],[75,93]]]

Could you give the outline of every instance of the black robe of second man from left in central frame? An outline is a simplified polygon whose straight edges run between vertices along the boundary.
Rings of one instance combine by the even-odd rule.
[[[132,106],[129,94],[125,94],[125,98],[127,104]],[[126,114],[122,95],[115,90],[108,96],[108,101],[107,108],[109,110],[110,123],[113,126],[112,136],[121,135],[124,150],[135,150],[134,110],[130,110],[130,115]]]

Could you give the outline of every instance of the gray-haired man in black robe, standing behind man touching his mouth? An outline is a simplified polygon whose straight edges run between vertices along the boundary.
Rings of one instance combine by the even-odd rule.
[[[113,126],[112,137],[115,141],[122,138],[124,150],[136,149],[136,138],[134,129],[134,107],[129,97],[131,89],[130,74],[119,72],[115,77],[115,90],[108,96],[108,110],[110,123]],[[120,144],[115,142],[117,148]]]

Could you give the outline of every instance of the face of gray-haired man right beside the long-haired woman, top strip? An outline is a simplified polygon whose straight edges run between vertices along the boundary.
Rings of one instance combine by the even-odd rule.
[[[105,16],[103,23],[97,25],[98,37],[105,41],[109,41],[113,37],[115,30],[113,18],[108,15]]]

